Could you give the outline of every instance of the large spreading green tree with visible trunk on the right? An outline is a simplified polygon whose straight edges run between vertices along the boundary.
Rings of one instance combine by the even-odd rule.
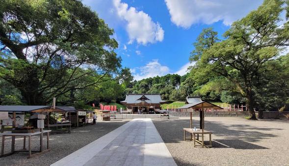
[[[253,120],[258,75],[265,62],[276,58],[289,45],[289,24],[280,25],[284,3],[284,0],[264,0],[257,10],[232,24],[223,41],[205,49],[195,66],[202,75],[213,73],[233,83],[246,98]]]

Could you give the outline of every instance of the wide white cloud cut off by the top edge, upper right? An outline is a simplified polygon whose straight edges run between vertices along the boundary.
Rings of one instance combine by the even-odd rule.
[[[211,24],[223,21],[225,25],[257,9],[263,0],[165,0],[171,21],[189,28],[194,23]]]

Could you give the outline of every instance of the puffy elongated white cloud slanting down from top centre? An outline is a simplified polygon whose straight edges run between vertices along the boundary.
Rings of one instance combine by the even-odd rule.
[[[139,44],[161,42],[164,30],[160,24],[152,21],[152,18],[143,11],[137,11],[134,7],[128,7],[121,0],[113,0],[118,16],[127,21],[126,30],[129,34],[129,43],[136,41]]]

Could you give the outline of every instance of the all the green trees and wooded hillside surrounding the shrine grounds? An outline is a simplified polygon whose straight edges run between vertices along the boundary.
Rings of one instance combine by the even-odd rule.
[[[159,93],[169,107],[187,96],[247,105],[250,119],[254,110],[289,110],[288,3],[264,0],[224,34],[205,28],[184,76],[134,81],[115,53],[113,29],[80,0],[2,0],[0,104],[49,105],[56,97],[58,105],[120,108],[128,93]]]

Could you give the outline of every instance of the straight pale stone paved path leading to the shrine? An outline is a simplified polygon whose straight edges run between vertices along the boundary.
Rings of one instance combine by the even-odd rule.
[[[52,166],[176,166],[151,119],[133,119]]]

